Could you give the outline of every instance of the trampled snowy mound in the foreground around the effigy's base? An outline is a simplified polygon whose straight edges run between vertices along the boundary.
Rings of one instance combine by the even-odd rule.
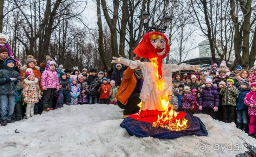
[[[247,150],[238,136],[256,144],[254,138],[236,129],[234,123],[225,124],[204,114],[196,116],[206,125],[208,136],[172,140],[130,136],[119,125],[120,111],[115,105],[64,105],[8,124],[0,127],[0,154],[4,157],[233,157]],[[16,129],[19,133],[15,133]]]

